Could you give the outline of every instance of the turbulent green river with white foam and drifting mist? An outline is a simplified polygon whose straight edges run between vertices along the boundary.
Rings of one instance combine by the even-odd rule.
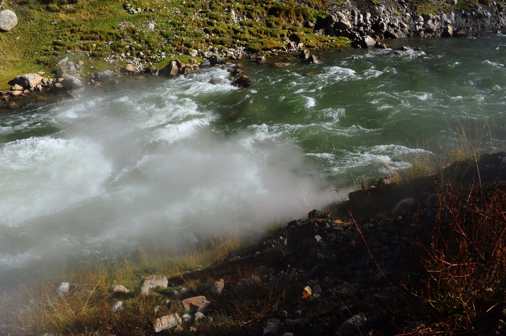
[[[504,138],[506,36],[401,45],[243,60],[243,90],[208,83],[225,66],[0,115],[0,278],[300,218],[304,195],[321,207],[465,120],[486,115]]]

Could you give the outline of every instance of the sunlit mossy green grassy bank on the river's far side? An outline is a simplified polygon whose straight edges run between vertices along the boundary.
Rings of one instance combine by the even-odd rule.
[[[328,38],[304,28],[325,17],[322,3],[310,7],[287,0],[19,0],[4,8],[18,25],[0,33],[0,89],[15,76],[50,72],[68,56],[98,71],[117,70],[134,59],[163,67],[168,61],[212,48],[244,48],[247,52],[281,48],[289,37],[309,48],[341,47],[346,38]],[[127,9],[141,9],[130,14]],[[233,14],[232,14],[233,12]],[[154,30],[148,24],[154,24]],[[199,55],[199,57],[202,57]],[[197,60],[198,61],[198,60]]]

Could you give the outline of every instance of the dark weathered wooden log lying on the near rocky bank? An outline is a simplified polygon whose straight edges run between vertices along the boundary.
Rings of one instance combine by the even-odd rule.
[[[168,278],[169,284],[182,284],[188,280],[205,279],[207,277],[221,277],[237,272],[240,268],[268,265],[283,261],[285,253],[281,249],[272,249],[262,253],[248,255],[244,258],[224,262],[215,266],[202,268],[193,272]]]

